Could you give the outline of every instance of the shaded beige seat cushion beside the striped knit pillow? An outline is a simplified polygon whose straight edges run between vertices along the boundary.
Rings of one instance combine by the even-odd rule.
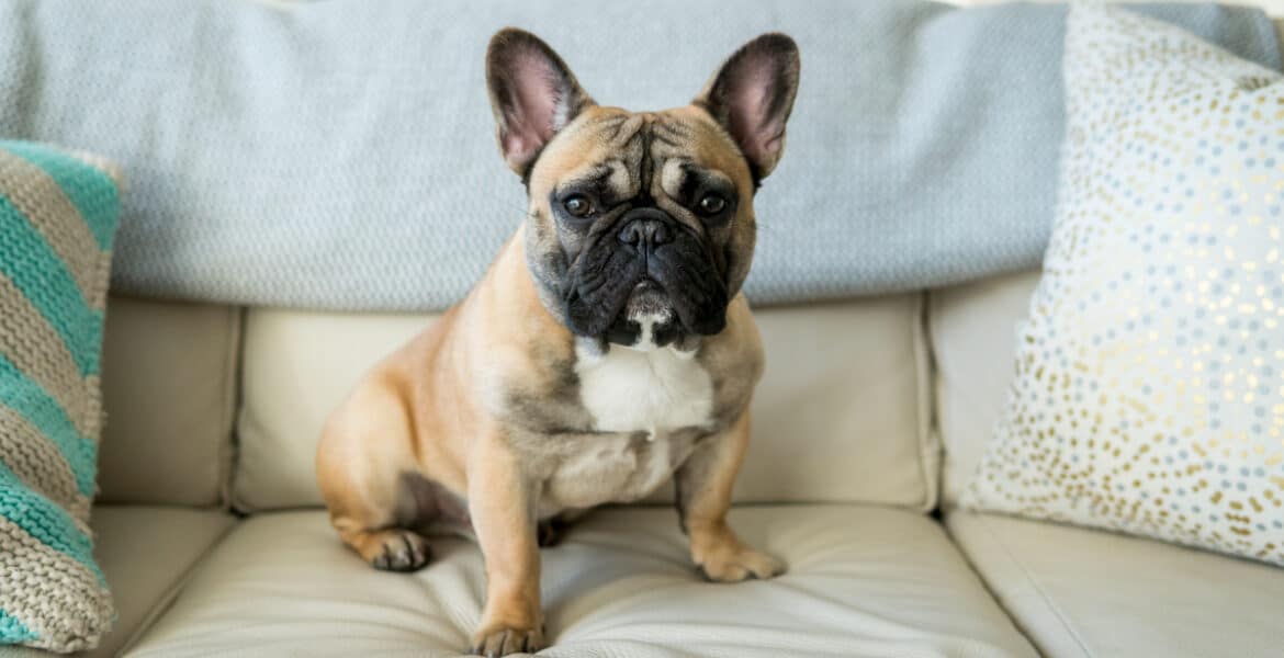
[[[116,600],[116,622],[98,649],[74,655],[117,655],[166,609],[184,577],[227,532],[234,518],[218,510],[149,505],[98,505],[90,526],[98,559]],[[30,648],[0,646],[0,658],[48,658]]]

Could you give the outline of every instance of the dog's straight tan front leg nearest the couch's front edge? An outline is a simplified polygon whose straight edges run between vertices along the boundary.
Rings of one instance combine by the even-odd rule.
[[[473,650],[482,655],[544,646],[535,495],[505,439],[498,432],[479,437],[469,458],[467,500],[485,561],[485,608],[473,635]]]

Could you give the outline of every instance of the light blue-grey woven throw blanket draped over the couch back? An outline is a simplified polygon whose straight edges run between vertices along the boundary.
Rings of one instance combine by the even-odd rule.
[[[0,136],[128,167],[118,291],[437,310],[526,208],[483,82],[497,28],[535,31],[597,100],[633,109],[686,103],[738,45],[779,30],[799,41],[802,82],[756,204],[751,299],[909,290],[1039,263],[1063,126],[1063,8],[555,6],[0,0]],[[1147,10],[1279,64],[1258,10]]]

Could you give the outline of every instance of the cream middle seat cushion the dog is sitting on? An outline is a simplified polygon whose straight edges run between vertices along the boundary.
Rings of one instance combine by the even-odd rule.
[[[944,530],[856,505],[737,508],[745,539],[788,564],[705,582],[670,509],[602,509],[543,557],[541,655],[1035,655]],[[252,517],[128,655],[456,655],[484,577],[470,543],[431,541],[415,575],[377,572],[321,512]]]

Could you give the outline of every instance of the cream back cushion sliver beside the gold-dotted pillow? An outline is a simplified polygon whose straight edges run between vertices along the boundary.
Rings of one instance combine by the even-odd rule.
[[[994,436],[1016,372],[1017,323],[1037,282],[1039,272],[1022,272],[928,294],[946,504],[958,500]]]

